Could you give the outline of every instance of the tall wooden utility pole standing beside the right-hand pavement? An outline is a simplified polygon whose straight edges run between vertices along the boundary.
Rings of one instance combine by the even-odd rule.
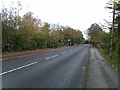
[[[111,29],[111,43],[110,43],[110,53],[109,58],[110,60],[113,58],[113,46],[114,46],[114,24],[115,24],[115,0],[113,2],[113,20],[112,20],[112,29]]]

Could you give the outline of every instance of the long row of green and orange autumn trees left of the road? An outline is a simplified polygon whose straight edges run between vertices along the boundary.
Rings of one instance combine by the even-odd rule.
[[[80,30],[59,24],[49,24],[35,18],[32,12],[20,16],[22,6],[1,9],[2,51],[23,51],[41,48],[56,48],[80,44]]]

